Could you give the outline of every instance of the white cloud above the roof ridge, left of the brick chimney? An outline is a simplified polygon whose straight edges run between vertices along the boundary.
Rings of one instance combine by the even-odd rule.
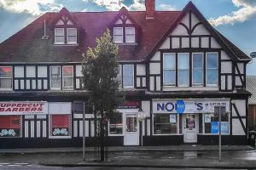
[[[125,0],[83,0],[85,3],[96,3],[97,6],[105,7],[108,10],[117,11],[122,7],[129,10],[145,10],[143,0],[132,0],[131,5],[125,5]]]

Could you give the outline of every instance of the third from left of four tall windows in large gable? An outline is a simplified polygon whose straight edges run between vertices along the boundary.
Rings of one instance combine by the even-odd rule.
[[[193,54],[193,86],[203,85],[203,54]]]

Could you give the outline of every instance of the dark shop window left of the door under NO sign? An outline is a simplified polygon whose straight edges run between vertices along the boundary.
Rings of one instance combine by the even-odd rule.
[[[154,134],[177,134],[177,115],[154,114]]]

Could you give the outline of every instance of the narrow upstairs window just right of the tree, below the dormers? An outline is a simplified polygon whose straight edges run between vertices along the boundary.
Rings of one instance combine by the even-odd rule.
[[[123,65],[123,87],[133,88],[133,65]]]

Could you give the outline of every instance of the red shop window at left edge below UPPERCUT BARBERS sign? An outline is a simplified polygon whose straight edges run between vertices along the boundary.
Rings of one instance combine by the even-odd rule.
[[[0,137],[21,137],[21,116],[0,116]]]

